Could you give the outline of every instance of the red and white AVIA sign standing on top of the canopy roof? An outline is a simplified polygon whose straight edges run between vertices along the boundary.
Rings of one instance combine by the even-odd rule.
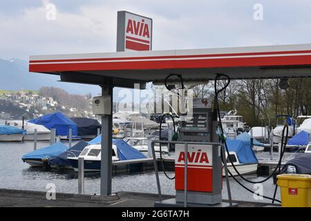
[[[117,12],[117,51],[151,50],[152,19]]]

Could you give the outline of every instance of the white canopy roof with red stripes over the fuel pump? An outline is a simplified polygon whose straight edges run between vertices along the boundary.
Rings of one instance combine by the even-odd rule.
[[[172,73],[184,81],[214,79],[218,73],[232,79],[310,77],[311,44],[41,55],[30,56],[29,69],[60,75],[62,81],[123,87],[162,82]]]

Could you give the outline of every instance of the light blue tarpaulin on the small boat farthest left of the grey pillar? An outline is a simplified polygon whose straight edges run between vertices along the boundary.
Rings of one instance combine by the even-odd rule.
[[[46,146],[44,148],[39,148],[37,151],[27,153],[21,157],[21,160],[25,161],[28,159],[44,159],[53,157],[64,153],[64,151],[67,151],[67,149],[68,146],[62,144],[61,142],[57,142],[56,144]]]

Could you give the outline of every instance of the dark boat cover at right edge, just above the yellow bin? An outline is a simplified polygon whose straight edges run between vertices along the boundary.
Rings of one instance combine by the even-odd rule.
[[[311,153],[301,153],[289,160],[282,168],[281,173],[286,173],[288,166],[295,166],[296,173],[311,174]]]

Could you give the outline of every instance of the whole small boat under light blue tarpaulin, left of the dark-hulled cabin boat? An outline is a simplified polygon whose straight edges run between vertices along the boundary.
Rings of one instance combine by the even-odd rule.
[[[27,153],[21,157],[21,160],[28,163],[30,166],[44,166],[44,163],[48,162],[49,157],[57,156],[67,150],[68,146],[62,144],[61,142],[57,142],[53,145],[39,148],[36,151]]]

